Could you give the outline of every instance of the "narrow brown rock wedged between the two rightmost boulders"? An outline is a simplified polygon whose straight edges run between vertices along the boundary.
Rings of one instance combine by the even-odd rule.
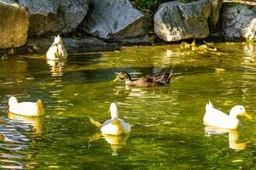
[[[222,7],[223,0],[209,0],[211,3],[211,14],[209,16],[209,26],[211,30],[217,28],[220,9]]]

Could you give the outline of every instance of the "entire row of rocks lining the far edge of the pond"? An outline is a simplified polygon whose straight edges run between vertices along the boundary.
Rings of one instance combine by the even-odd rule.
[[[256,6],[200,0],[162,3],[154,16],[129,0],[0,0],[0,54],[45,54],[60,34],[68,54],[216,37],[256,37]]]

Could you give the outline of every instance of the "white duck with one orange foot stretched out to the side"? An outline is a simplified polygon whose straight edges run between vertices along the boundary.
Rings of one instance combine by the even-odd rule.
[[[111,119],[107,120],[103,124],[96,122],[89,116],[90,122],[96,127],[99,127],[103,134],[121,135],[131,132],[131,125],[118,118],[118,109],[115,103],[112,103],[109,108]]]

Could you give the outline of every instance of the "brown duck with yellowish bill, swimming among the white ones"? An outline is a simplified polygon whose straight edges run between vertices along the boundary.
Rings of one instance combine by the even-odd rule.
[[[158,75],[148,75],[145,77],[141,77],[138,80],[132,81],[130,75],[127,72],[123,71],[113,80],[113,82],[116,82],[118,80],[124,80],[127,86],[137,88],[148,88],[169,84],[171,81],[171,77],[172,71]]]

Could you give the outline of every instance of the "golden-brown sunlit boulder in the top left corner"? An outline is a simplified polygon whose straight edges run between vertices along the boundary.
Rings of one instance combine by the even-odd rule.
[[[16,48],[26,43],[26,9],[16,3],[0,1],[0,48]]]

